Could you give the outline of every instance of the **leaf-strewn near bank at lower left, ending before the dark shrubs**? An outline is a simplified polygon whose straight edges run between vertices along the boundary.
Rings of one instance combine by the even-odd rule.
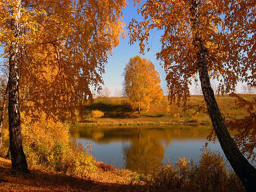
[[[16,175],[11,171],[11,161],[0,157],[0,191],[147,191],[145,183],[131,184],[134,172],[108,167],[99,166],[97,173],[84,178],[35,168],[29,169],[30,174]]]

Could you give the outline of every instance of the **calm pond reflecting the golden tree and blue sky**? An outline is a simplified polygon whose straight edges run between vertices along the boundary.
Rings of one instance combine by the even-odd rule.
[[[99,162],[152,173],[162,163],[174,164],[183,156],[198,162],[211,130],[211,126],[203,125],[72,127],[70,139],[77,146],[90,143]],[[218,141],[210,142],[209,147],[223,154]]]

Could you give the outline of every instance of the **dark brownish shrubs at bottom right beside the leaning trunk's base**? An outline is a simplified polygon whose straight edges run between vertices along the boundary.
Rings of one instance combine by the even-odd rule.
[[[162,165],[155,184],[165,191],[245,191],[235,173],[226,170],[219,152],[204,149],[198,165],[184,157]]]

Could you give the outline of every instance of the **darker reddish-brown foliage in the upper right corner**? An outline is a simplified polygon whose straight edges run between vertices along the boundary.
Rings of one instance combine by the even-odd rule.
[[[232,32],[233,41],[240,45],[241,67],[240,75],[242,82],[249,86],[256,87],[256,5],[254,0],[237,1],[230,0],[230,7],[225,20],[225,25]]]

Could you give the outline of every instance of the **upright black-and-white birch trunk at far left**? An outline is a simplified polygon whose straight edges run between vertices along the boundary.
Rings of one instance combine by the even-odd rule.
[[[16,3],[15,19],[11,20],[11,29],[15,40],[11,42],[9,50],[9,145],[11,151],[12,169],[17,173],[29,173],[27,169],[26,157],[22,147],[20,127],[18,45],[21,28],[18,21],[21,16],[21,1],[18,0]]]

